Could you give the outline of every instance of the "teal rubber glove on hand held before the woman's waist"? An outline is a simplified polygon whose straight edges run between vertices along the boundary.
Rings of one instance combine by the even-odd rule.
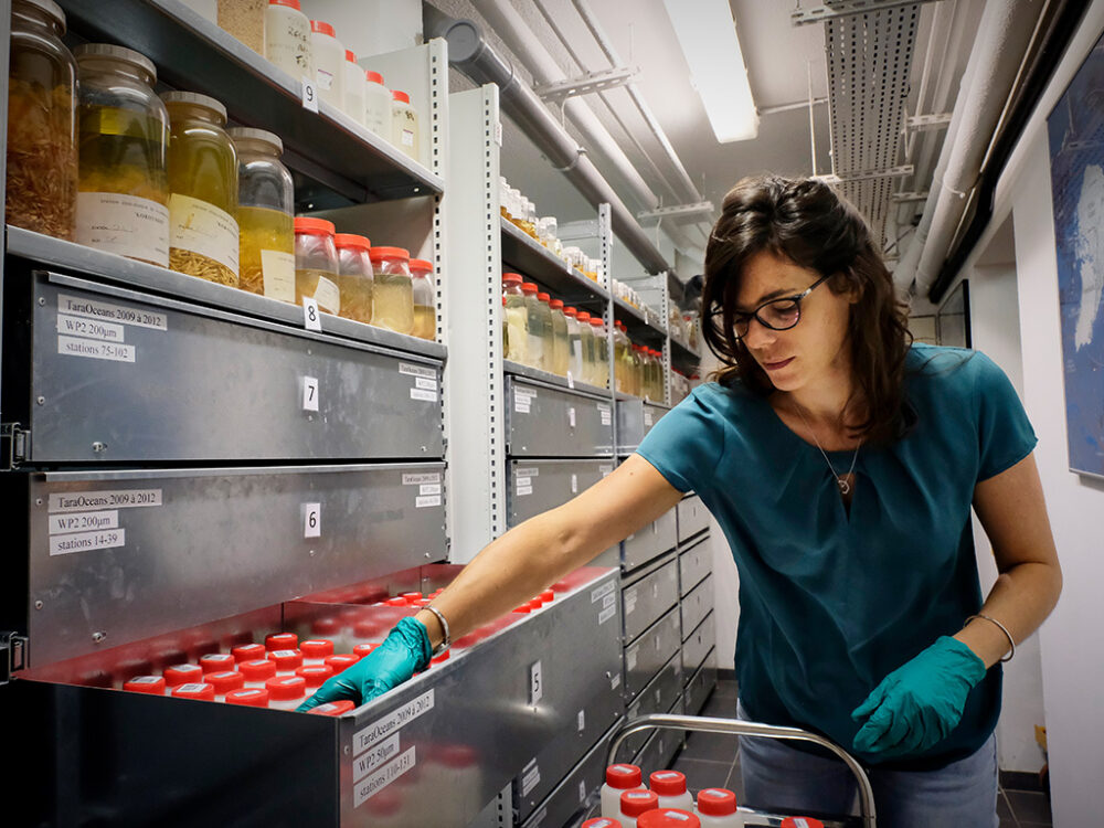
[[[885,757],[926,751],[955,729],[966,697],[984,677],[985,662],[969,647],[940,636],[851,711],[856,722],[866,720],[854,736],[854,750]]]

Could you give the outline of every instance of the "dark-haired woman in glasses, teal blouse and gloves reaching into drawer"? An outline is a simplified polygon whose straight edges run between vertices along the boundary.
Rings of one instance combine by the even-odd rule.
[[[871,772],[880,824],[997,825],[1001,657],[1061,572],[1007,378],[911,346],[856,210],[816,180],[746,179],[705,255],[703,335],[722,361],[639,450],[484,550],[315,697],[367,700],[694,490],[740,572],[739,712],[820,732]],[[970,506],[1000,577],[981,601]],[[308,702],[309,703],[309,702]],[[838,760],[741,741],[745,800],[842,813]]]

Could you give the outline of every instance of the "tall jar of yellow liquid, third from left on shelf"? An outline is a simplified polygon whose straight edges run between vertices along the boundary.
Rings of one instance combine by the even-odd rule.
[[[226,107],[194,92],[161,95],[169,110],[169,267],[238,284],[237,152]]]

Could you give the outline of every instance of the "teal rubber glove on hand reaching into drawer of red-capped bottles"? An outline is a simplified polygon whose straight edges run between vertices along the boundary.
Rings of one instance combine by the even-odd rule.
[[[360,707],[424,670],[432,651],[425,625],[414,618],[402,618],[383,644],[329,679],[296,710],[307,711],[341,699],[351,699]]]

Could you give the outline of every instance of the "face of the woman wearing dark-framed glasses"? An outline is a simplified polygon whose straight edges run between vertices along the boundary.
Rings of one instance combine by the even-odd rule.
[[[820,274],[788,258],[760,251],[744,265],[736,309],[751,314],[760,305],[808,289]],[[771,330],[752,319],[744,346],[779,391],[797,391],[810,383],[847,380],[850,352],[847,325],[853,299],[821,284],[802,299],[800,319],[788,330]]]

